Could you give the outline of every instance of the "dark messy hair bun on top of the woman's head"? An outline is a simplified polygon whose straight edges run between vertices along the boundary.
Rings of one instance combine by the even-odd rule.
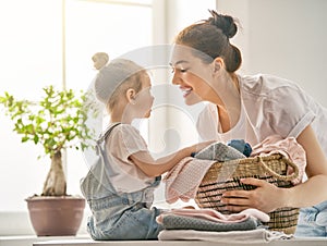
[[[208,24],[221,29],[228,38],[232,38],[237,34],[238,26],[232,16],[218,14],[215,10],[209,10],[209,12],[213,16],[206,21]]]

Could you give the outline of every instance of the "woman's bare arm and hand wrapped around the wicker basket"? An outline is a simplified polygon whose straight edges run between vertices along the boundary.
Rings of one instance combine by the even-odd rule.
[[[292,188],[278,188],[256,179],[243,179],[242,183],[257,186],[253,190],[226,192],[222,202],[231,211],[257,208],[270,212],[281,207],[307,207],[327,200],[327,160],[314,131],[307,126],[298,137],[306,152],[307,181]]]

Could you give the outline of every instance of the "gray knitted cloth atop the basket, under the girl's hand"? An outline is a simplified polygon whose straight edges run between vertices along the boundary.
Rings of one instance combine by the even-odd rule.
[[[222,143],[214,143],[204,148],[195,156],[197,159],[216,160],[216,161],[229,161],[234,159],[246,158],[242,152],[231,146],[227,146]]]

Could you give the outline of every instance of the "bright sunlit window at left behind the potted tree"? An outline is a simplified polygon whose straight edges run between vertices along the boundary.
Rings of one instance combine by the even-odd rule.
[[[152,45],[152,0],[1,1],[0,93],[37,99],[41,87],[63,82],[87,89],[96,74],[95,52],[112,59]],[[37,160],[41,149],[21,144],[2,112],[0,122],[0,194],[5,197],[0,211],[26,210],[24,198],[41,193],[50,160]],[[72,151],[66,160],[68,193],[80,194],[78,181],[87,171],[83,155]]]

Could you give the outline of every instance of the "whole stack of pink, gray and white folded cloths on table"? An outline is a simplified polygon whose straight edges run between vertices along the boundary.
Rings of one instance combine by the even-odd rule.
[[[269,216],[257,209],[222,214],[214,209],[172,209],[157,217],[160,241],[196,239],[223,243],[263,243],[292,235],[265,229]]]

